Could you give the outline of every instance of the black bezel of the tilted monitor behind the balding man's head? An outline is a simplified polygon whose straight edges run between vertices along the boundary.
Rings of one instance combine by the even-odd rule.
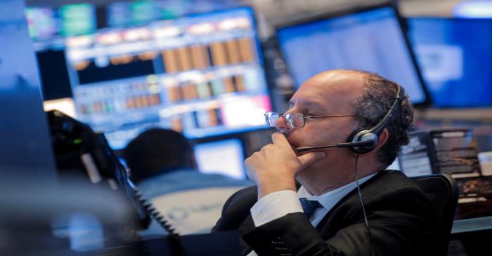
[[[275,26],[275,31],[276,31],[275,36],[276,36],[278,48],[280,49],[280,55],[282,55],[283,60],[286,60],[285,53],[283,52],[282,48],[280,47],[280,40],[278,39],[278,36],[277,36],[278,31],[281,29],[287,29],[287,28],[299,26],[299,25],[306,25],[308,23],[319,22],[319,21],[323,21],[323,20],[329,20],[332,18],[340,18],[344,15],[363,13],[365,11],[375,11],[375,10],[380,9],[380,8],[391,8],[394,11],[394,13],[396,15],[396,20],[399,24],[399,27],[401,28],[401,32],[403,35],[403,41],[405,42],[405,46],[408,50],[408,54],[410,55],[410,61],[412,62],[412,65],[415,69],[415,74],[417,74],[417,80],[420,83],[420,88],[422,89],[422,93],[425,96],[425,100],[423,100],[422,102],[416,102],[416,103],[412,102],[412,105],[414,107],[417,107],[417,108],[429,107],[430,105],[432,105],[432,98],[429,94],[429,91],[427,90],[427,86],[426,86],[425,81],[423,79],[422,73],[420,72],[420,67],[418,66],[418,63],[417,63],[417,58],[415,57],[415,53],[413,52],[412,46],[410,44],[410,40],[408,39],[408,25],[406,24],[405,18],[403,18],[400,15],[400,13],[398,11],[398,6],[396,6],[396,4],[394,4],[394,3],[376,4],[376,5],[372,5],[372,6],[357,6],[354,8],[347,8],[344,10],[334,11],[334,12],[330,12],[330,13],[323,13],[321,15],[304,16],[303,18],[299,18],[297,20],[290,20],[288,22],[284,22],[282,24],[276,25]],[[285,65],[287,66],[287,70],[289,70],[289,72],[290,72],[289,63],[285,61]],[[292,74],[292,72],[290,72],[290,73]],[[297,88],[299,88],[298,86],[300,86],[300,85],[296,85]]]

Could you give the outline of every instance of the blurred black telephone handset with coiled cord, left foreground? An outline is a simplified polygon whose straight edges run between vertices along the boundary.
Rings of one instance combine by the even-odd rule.
[[[167,231],[173,255],[186,255],[179,234],[131,183],[127,169],[103,133],[96,133],[86,124],[57,110],[46,114],[60,176],[86,175],[93,184],[121,189],[134,206],[141,228],[147,228],[153,217]]]

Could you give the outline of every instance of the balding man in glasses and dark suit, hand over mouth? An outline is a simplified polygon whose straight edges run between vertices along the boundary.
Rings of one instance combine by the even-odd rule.
[[[347,142],[354,131],[376,126],[398,88],[377,74],[348,70],[308,79],[285,114],[268,116],[280,130],[273,143],[245,161],[257,187],[231,196],[213,230],[240,229],[242,255],[432,255],[436,213],[408,177],[384,170],[408,143],[408,96],[369,152],[296,152]],[[299,198],[316,202],[309,206],[302,199],[303,208]]]

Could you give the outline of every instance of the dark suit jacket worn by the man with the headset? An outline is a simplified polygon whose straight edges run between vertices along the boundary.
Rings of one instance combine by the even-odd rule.
[[[381,171],[361,185],[375,255],[433,255],[436,213],[425,194],[399,171]],[[290,213],[255,228],[250,208],[257,187],[226,201],[212,232],[239,229],[242,255],[371,255],[356,189],[315,228],[303,213]]]

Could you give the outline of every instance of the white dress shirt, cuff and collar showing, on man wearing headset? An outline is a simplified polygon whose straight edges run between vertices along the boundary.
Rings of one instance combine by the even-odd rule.
[[[376,175],[376,173],[359,179],[359,184],[369,180],[374,175]],[[357,183],[354,181],[319,196],[309,194],[304,187],[301,187],[297,192],[292,190],[282,190],[268,194],[259,199],[250,210],[254,227],[259,227],[289,213],[304,213],[299,198],[318,201],[321,203],[321,206],[323,206],[323,208],[318,208],[309,219],[313,227],[316,227],[331,208],[356,187]],[[248,256],[257,256],[257,253],[253,250]]]

